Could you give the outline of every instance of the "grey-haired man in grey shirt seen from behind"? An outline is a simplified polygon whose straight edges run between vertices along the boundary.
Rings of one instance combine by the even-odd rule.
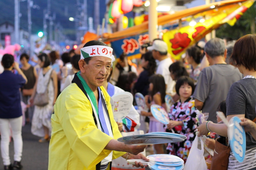
[[[226,100],[230,86],[241,80],[242,74],[238,68],[225,62],[227,50],[222,39],[208,41],[204,52],[210,66],[201,71],[192,96],[195,98],[196,108],[202,113],[209,113],[207,120],[217,123],[216,111],[219,103]]]

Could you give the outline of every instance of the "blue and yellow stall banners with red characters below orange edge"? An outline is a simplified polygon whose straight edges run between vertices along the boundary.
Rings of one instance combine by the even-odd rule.
[[[116,2],[117,3],[117,2]],[[174,14],[158,16],[159,37],[168,44],[168,52],[179,60],[188,47],[224,23],[233,26],[254,0],[224,0],[189,8]],[[114,5],[114,4],[113,4]],[[115,15],[114,15],[115,16]],[[150,20],[150,19],[149,19]],[[148,22],[114,33],[104,33],[104,42],[111,42],[116,57],[123,52],[131,58],[140,58],[140,46],[149,41]]]

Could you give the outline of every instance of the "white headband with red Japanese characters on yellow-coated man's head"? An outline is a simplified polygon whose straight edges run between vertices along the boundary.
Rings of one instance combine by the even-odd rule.
[[[108,46],[103,45],[93,45],[80,49],[81,59],[86,59],[88,57],[94,56],[104,56],[112,59],[113,49]]]

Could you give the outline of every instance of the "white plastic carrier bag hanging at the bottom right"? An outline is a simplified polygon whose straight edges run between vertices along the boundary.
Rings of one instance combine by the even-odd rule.
[[[201,150],[198,149],[198,141],[200,141],[199,145],[201,144]],[[201,137],[197,135],[188,154],[184,170],[207,170],[204,159],[204,143]]]

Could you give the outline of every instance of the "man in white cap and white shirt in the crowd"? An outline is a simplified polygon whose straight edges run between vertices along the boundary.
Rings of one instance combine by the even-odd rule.
[[[173,94],[175,82],[170,76],[169,66],[172,64],[172,60],[167,56],[167,44],[162,40],[155,40],[153,45],[147,47],[149,51],[152,51],[154,59],[158,60],[158,66],[156,68],[156,74],[161,74],[164,77],[166,84],[166,93]]]

